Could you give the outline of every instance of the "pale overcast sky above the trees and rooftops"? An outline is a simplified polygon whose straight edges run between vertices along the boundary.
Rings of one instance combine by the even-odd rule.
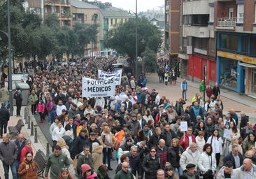
[[[101,2],[110,2],[113,7],[132,10],[135,13],[136,0],[101,0]],[[159,10],[159,6],[164,6],[164,0],[137,0],[138,12],[148,9]]]

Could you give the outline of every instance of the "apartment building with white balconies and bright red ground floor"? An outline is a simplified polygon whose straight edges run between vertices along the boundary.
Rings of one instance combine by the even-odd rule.
[[[193,81],[216,81],[214,0],[180,1],[181,76]]]

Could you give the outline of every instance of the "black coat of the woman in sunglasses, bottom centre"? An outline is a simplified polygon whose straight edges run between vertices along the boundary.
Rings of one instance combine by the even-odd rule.
[[[143,159],[142,167],[145,172],[145,179],[157,178],[157,170],[162,168],[159,157],[156,155],[155,159],[152,159],[150,154]]]

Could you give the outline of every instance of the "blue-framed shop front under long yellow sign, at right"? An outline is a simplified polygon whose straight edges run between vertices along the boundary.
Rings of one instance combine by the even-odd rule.
[[[230,90],[256,97],[256,58],[218,50],[217,82]]]

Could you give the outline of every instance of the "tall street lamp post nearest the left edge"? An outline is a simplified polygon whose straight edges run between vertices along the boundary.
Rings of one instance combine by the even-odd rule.
[[[1,31],[8,38],[8,88],[9,88],[9,104],[10,116],[13,116],[13,85],[12,85],[12,59],[11,59],[11,45],[10,45],[10,0],[7,0],[7,18],[8,18],[8,33]]]

